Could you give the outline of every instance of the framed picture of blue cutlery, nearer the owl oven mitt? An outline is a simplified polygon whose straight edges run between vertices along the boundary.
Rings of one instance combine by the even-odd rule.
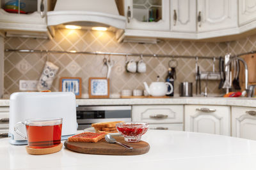
[[[76,98],[82,96],[82,79],[79,77],[61,77],[60,92],[73,92]]]

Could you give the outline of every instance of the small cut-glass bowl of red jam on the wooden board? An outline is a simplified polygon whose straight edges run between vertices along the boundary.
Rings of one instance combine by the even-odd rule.
[[[145,122],[118,123],[116,129],[123,134],[125,141],[139,142],[141,136],[148,131],[148,124]]]

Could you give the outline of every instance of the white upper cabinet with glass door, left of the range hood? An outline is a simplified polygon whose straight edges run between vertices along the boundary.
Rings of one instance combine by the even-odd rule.
[[[44,11],[42,13],[40,12],[41,1],[44,4]],[[47,12],[47,1],[26,1],[26,9],[24,9],[24,12],[28,13],[10,13],[5,11],[4,8],[6,7],[4,4],[8,2],[12,1],[4,0],[0,8],[0,30],[6,32],[6,36],[21,36],[45,39],[51,36],[47,29],[47,22],[45,17],[45,13]]]

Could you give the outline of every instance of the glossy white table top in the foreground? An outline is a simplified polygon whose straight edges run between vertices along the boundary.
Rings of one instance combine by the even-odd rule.
[[[0,139],[0,169],[256,169],[256,141],[195,132],[149,130],[143,155],[76,153],[64,148],[49,155],[29,155],[25,146]]]

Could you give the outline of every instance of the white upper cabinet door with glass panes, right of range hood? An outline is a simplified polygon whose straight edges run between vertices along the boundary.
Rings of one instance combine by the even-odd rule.
[[[169,31],[169,2],[169,0],[125,1],[126,28]]]

